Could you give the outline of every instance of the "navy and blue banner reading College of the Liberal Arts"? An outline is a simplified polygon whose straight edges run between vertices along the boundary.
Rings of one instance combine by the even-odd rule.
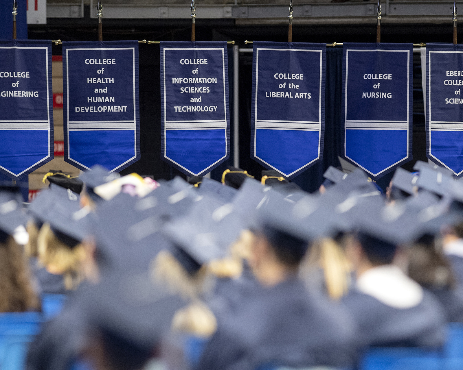
[[[251,158],[288,179],[323,156],[326,44],[254,41]]]

